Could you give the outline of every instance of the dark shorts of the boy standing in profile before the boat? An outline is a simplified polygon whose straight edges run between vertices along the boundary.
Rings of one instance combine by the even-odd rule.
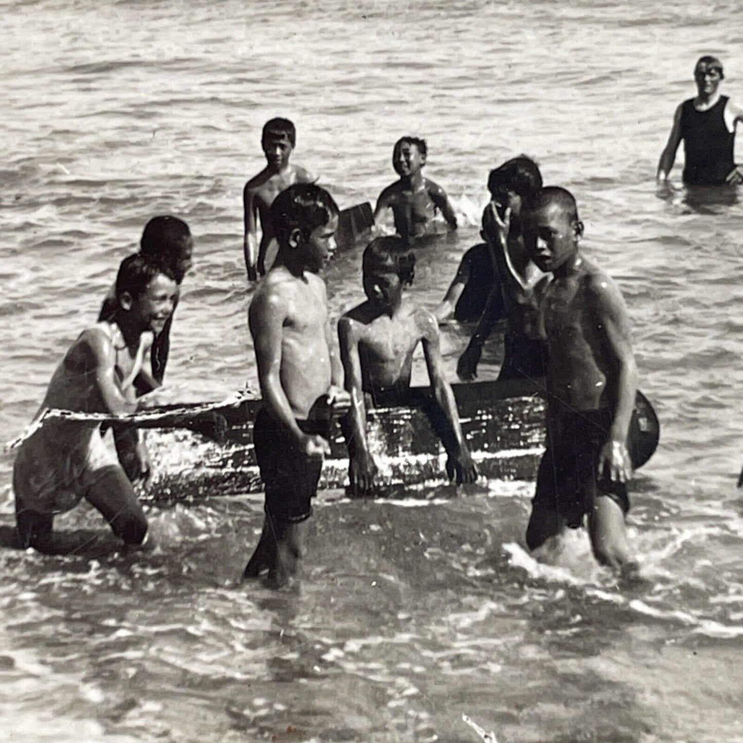
[[[328,437],[328,421],[297,421],[309,435]],[[312,514],[311,500],[317,495],[322,459],[299,451],[286,429],[265,408],[253,426],[256,461],[265,485],[265,510],[272,518],[300,522]]]

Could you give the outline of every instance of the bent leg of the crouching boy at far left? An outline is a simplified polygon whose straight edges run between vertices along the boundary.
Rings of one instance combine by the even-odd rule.
[[[100,510],[116,536],[127,545],[141,545],[147,519],[123,468],[108,464],[88,476],[85,500]]]

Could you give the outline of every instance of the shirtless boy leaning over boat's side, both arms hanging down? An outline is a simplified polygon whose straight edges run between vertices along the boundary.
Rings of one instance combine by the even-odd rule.
[[[345,389],[351,394],[348,476],[351,493],[374,490],[377,472],[366,441],[366,404],[380,393],[400,395],[410,386],[413,352],[422,343],[433,397],[447,428],[447,473],[458,483],[477,478],[464,443],[452,388],[441,371],[441,337],[435,317],[403,299],[412,283],[415,255],[398,237],[380,237],[363,255],[366,302],[348,311],[338,323]]]

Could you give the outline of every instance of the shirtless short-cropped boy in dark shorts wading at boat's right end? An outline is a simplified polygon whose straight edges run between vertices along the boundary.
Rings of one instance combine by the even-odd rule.
[[[526,532],[533,550],[588,515],[596,559],[636,568],[624,528],[632,477],[628,435],[637,394],[629,319],[617,285],[580,253],[583,223],[562,188],[522,212],[526,249],[553,275],[542,299],[548,343],[547,451]]]

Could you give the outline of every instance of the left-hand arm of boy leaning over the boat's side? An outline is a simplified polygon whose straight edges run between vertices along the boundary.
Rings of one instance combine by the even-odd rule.
[[[345,371],[345,389],[351,395],[351,408],[348,410],[348,480],[351,493],[367,495],[374,490],[374,476],[377,465],[369,453],[366,441],[366,403],[364,400],[359,354],[359,325],[349,317],[341,317],[338,322],[340,357]]]

